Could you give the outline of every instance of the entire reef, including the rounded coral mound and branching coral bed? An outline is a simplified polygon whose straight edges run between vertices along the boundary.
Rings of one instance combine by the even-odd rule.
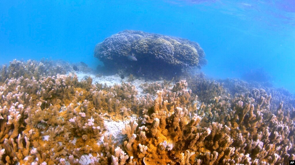
[[[94,56],[116,70],[120,83],[99,83],[110,79],[101,75],[98,82],[81,80],[78,75],[90,69],[76,64],[77,72],[62,61],[14,60],[0,69],[1,165],[267,165],[295,159],[294,97],[259,82],[189,75],[185,70],[206,63],[199,44],[122,31],[99,43]],[[178,80],[147,81],[175,72]]]

